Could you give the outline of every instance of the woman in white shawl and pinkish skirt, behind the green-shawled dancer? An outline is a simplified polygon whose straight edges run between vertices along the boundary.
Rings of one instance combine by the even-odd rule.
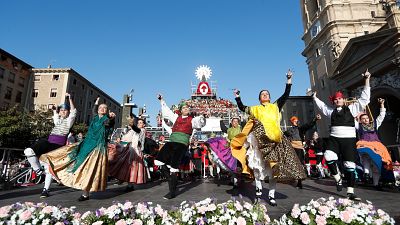
[[[109,174],[119,181],[128,182],[126,191],[133,191],[133,184],[147,182],[147,169],[144,163],[145,121],[128,120],[128,130],[115,148],[109,148]]]

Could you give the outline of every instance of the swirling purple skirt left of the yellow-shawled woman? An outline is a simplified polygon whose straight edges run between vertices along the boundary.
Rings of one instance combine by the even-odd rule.
[[[219,161],[231,170],[231,172],[236,172],[237,159],[232,156],[228,141],[225,138],[216,137],[208,139],[207,143],[210,149],[218,156]]]

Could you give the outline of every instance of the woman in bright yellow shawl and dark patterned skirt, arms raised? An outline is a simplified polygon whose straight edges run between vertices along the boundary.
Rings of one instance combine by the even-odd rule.
[[[260,105],[245,106],[235,91],[239,109],[250,115],[250,119],[241,134],[232,140],[232,153],[238,155],[235,145],[246,137],[247,164],[252,169],[256,180],[256,202],[261,200],[262,183],[269,178],[269,204],[276,206],[275,188],[277,181],[305,179],[306,175],[289,140],[283,135],[280,128],[280,111],[289,97],[292,86],[292,72],[286,74],[287,83],[285,93],[274,103],[270,103],[270,93],[262,90],[259,93]],[[244,134],[244,135],[242,135]],[[243,142],[242,142],[243,143]],[[239,159],[241,161],[241,159]],[[242,160],[243,161],[243,160]],[[242,162],[242,165],[245,164]],[[243,171],[248,169],[244,168]]]

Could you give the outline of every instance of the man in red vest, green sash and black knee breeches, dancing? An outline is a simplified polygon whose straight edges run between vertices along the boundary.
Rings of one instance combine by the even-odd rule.
[[[205,126],[206,120],[203,116],[190,116],[190,109],[185,102],[179,105],[181,114],[178,115],[167,106],[162,95],[158,95],[158,99],[161,103],[163,118],[172,121],[173,126],[170,141],[162,147],[154,163],[161,166],[164,176],[168,178],[169,193],[164,198],[172,199],[176,196],[179,165],[188,150],[193,129],[200,129]]]

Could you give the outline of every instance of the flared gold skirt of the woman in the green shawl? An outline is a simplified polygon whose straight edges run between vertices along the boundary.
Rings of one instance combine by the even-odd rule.
[[[49,171],[63,185],[88,192],[104,191],[107,187],[107,152],[98,149],[88,155],[82,165],[72,172],[75,160],[68,156],[77,144],[67,145],[43,154],[40,161],[49,165]]]

